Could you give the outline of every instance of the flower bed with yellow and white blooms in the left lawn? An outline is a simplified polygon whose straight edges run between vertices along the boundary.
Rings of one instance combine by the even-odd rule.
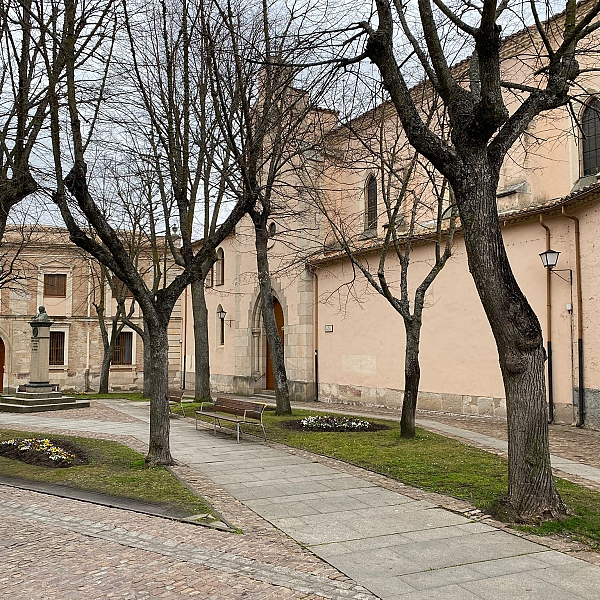
[[[0,456],[44,467],[87,464],[84,453],[72,442],[47,438],[14,438],[0,442]]]

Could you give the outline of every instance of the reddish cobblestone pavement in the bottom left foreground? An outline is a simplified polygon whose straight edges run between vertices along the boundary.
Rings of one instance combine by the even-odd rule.
[[[0,515],[0,598],[374,598],[266,522],[237,535],[9,486]]]

